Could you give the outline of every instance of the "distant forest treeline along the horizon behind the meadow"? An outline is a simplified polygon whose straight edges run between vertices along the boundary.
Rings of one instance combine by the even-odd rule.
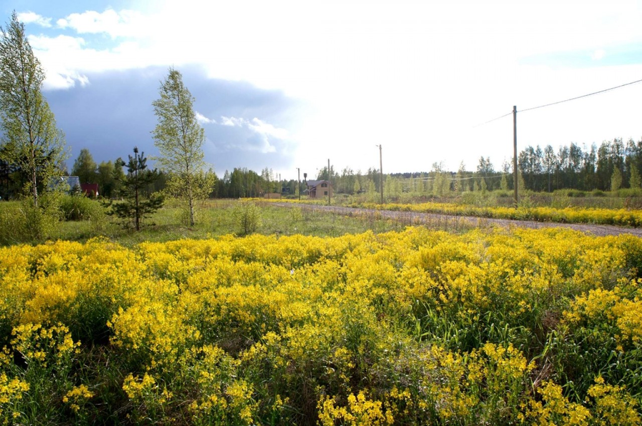
[[[519,186],[531,191],[551,192],[557,189],[577,189],[580,191],[611,191],[620,188],[641,187],[640,170],[642,169],[642,140],[635,142],[622,139],[605,141],[597,146],[578,146],[571,143],[557,150],[548,145],[542,149],[527,146],[517,158],[519,168]],[[66,170],[60,171],[67,175]],[[80,182],[98,183],[101,195],[110,198],[115,196],[117,180],[123,176],[122,169],[116,162],[108,161],[96,164],[88,149],[82,149],[74,162],[71,175],[79,176]],[[334,192],[342,194],[378,193],[381,188],[381,176],[376,168],[369,168],[365,173],[345,167],[335,171],[327,167],[318,171],[317,176],[309,179],[331,179]],[[161,171],[161,178],[150,192],[164,189],[167,176]],[[304,182],[301,176],[301,192]],[[28,176],[15,165],[0,161],[0,196],[10,198],[19,193],[22,185],[28,182]],[[423,196],[444,196],[449,192],[492,191],[495,189],[513,189],[512,162],[504,162],[496,169],[488,157],[481,157],[474,171],[467,170],[462,164],[458,171],[447,171],[443,164],[434,163],[431,171],[415,173],[392,173],[384,175],[384,192],[386,196],[397,196],[410,192]],[[297,180],[281,180],[267,167],[256,173],[247,168],[237,167],[231,172],[225,171],[223,178],[218,178],[211,193],[213,198],[259,197],[266,192],[282,192],[296,195]]]

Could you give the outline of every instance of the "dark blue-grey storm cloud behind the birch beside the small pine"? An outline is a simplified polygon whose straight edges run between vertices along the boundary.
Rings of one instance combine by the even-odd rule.
[[[204,151],[216,173],[290,167],[292,142],[282,129],[290,123],[292,99],[248,83],[209,79],[198,69],[179,71],[196,98],[195,110],[211,120],[202,122]],[[150,133],[156,125],[152,101],[166,74],[162,67],[88,74],[89,85],[45,93],[71,148],[70,171],[82,148],[96,162],[126,158],[134,146],[157,154]]]

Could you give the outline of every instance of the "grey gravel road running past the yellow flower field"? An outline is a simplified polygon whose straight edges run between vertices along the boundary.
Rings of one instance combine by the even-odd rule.
[[[293,203],[272,203],[279,207],[302,207]],[[535,222],[535,221],[517,221],[511,219],[490,219],[487,217],[474,217],[474,216],[449,216],[445,214],[432,214],[432,213],[419,213],[419,212],[398,212],[394,210],[375,210],[375,209],[353,209],[352,207],[338,207],[327,205],[303,205],[305,209],[311,210],[325,210],[334,212],[336,214],[343,214],[347,216],[377,216],[388,217],[390,219],[398,220],[408,225],[431,223],[443,226],[444,228],[456,229],[469,226],[522,226],[524,228],[571,228],[574,230],[585,232],[586,234],[593,235],[620,235],[631,234],[642,237],[642,228],[624,228],[622,226],[611,225],[591,225],[589,223],[553,223],[553,222]]]

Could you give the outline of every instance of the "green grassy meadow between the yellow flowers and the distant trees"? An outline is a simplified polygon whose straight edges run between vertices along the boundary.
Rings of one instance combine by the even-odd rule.
[[[577,196],[575,192],[557,191],[553,194],[525,192],[521,198],[521,204],[530,207],[600,207],[606,209],[640,209],[642,198],[631,196],[629,198],[610,196],[592,196],[591,192]],[[577,191],[576,191],[577,192]],[[454,194],[453,194],[454,195]],[[512,198],[506,191],[489,192],[464,192],[456,197],[429,198],[433,202],[449,202],[459,205],[475,206],[502,206],[510,205]],[[636,195],[636,194],[630,194]],[[347,196],[337,194],[332,200],[332,205],[348,205],[363,199],[361,196]],[[427,201],[426,197],[412,197],[406,194],[403,197],[407,203],[419,203]],[[393,198],[386,198],[392,201]],[[98,201],[83,200],[86,210],[94,212],[85,220],[61,220],[40,240],[33,237],[16,237],[15,229],[21,216],[21,203],[19,201],[0,202],[0,244],[37,244],[44,241],[67,240],[85,242],[95,237],[104,237],[110,241],[117,241],[125,246],[134,246],[143,241],[171,241],[177,239],[206,239],[219,235],[237,234],[242,232],[234,222],[234,207],[238,200],[208,200],[198,211],[197,222],[193,227],[186,226],[184,214],[176,203],[167,203],[162,209],[153,214],[152,217],[143,221],[143,228],[140,232],[123,228],[122,224],[114,217],[103,214],[105,208]],[[412,216],[399,220],[385,219],[378,213],[364,215],[341,215],[333,212],[315,210],[309,204],[325,205],[326,201],[304,200],[302,203],[293,203],[291,207],[277,207],[271,202],[256,200],[261,211],[261,226],[257,229],[259,234],[266,235],[315,235],[315,236],[339,236],[343,234],[358,234],[367,230],[372,232],[386,232],[390,230],[402,230],[413,223]],[[95,213],[98,212],[98,213]],[[61,217],[65,217],[61,214]],[[4,221],[3,221],[4,220]],[[446,219],[434,219],[431,223],[424,224],[429,228],[443,229],[454,232],[462,232],[471,225],[465,223],[449,223]],[[2,229],[4,228],[4,229]],[[24,228],[24,226],[23,226]],[[31,238],[31,239],[30,239]]]

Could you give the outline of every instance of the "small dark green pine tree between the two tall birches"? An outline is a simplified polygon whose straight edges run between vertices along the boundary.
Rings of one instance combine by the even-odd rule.
[[[141,220],[160,209],[164,201],[158,192],[146,194],[146,187],[159,178],[156,169],[147,169],[146,162],[144,153],[141,152],[141,155],[138,155],[138,148],[134,148],[134,157],[129,156],[127,175],[121,180],[118,191],[123,201],[114,203],[110,212],[126,221],[134,221],[134,228],[137,231],[141,230]],[[120,158],[116,163],[117,167],[125,166]]]

